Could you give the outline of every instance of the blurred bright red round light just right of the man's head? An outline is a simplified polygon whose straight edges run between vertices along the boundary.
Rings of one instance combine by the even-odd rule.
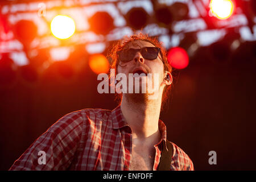
[[[188,66],[189,57],[185,49],[181,47],[173,47],[168,51],[168,63],[176,69],[184,69]]]

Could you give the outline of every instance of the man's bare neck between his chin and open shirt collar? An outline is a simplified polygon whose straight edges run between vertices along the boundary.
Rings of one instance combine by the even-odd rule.
[[[159,140],[158,122],[160,107],[161,100],[135,102],[126,97],[122,98],[122,114],[133,131],[133,139],[141,142]]]

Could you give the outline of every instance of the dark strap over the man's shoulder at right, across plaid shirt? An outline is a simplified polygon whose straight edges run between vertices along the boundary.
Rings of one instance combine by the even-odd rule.
[[[168,148],[168,151],[166,150],[166,146]],[[171,162],[172,162],[172,154],[173,154],[173,148],[171,142],[166,140],[166,144],[163,141],[162,143],[162,154],[160,157],[159,167],[158,171],[170,171]]]

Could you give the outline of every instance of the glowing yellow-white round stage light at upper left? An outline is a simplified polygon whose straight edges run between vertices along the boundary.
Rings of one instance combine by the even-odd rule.
[[[67,15],[57,15],[52,19],[51,31],[58,39],[70,38],[76,30],[75,21]]]

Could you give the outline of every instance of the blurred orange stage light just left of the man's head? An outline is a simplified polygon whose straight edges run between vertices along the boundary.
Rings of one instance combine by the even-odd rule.
[[[109,61],[102,54],[96,54],[89,57],[89,67],[96,74],[108,73]]]

